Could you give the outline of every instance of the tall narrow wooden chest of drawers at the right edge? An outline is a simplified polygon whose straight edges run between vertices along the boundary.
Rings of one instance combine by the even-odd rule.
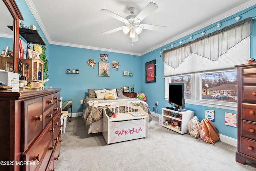
[[[238,149],[236,161],[256,163],[256,64],[238,69]]]

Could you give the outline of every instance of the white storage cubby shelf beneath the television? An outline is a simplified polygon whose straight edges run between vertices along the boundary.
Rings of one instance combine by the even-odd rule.
[[[180,134],[188,133],[188,121],[194,117],[194,111],[176,111],[162,108],[162,126]]]

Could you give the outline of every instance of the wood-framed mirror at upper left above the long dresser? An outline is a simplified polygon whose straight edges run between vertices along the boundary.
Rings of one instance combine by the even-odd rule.
[[[0,2],[0,16],[1,16],[0,17],[0,21],[1,21],[0,37],[6,37],[6,36],[8,37],[9,35],[9,38],[11,38],[10,34],[12,33],[12,30],[10,30],[7,26],[11,25],[14,28],[12,33],[13,41],[12,41],[12,46],[10,46],[10,50],[12,50],[13,52],[13,70],[14,72],[18,73],[19,23],[20,23],[20,20],[23,20],[23,17],[18,9],[18,6],[15,0],[2,0]],[[8,42],[8,40],[6,41]],[[4,38],[3,38],[3,41],[1,40],[0,42],[1,52],[3,48],[3,44],[4,44]],[[6,43],[6,44],[9,44],[9,43]]]

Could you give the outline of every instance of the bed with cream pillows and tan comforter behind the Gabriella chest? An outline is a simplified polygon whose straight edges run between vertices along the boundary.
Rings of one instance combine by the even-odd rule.
[[[110,97],[106,98],[108,95],[110,95]],[[115,97],[113,98],[112,95]],[[140,106],[148,113],[148,122],[152,121],[152,115],[145,101],[124,96],[122,90],[119,88],[88,89],[88,95],[84,98],[82,115],[88,133],[101,133],[103,108],[110,107],[121,101],[131,103],[134,106]]]

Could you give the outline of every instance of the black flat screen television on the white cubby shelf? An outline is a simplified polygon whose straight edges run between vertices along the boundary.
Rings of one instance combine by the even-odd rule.
[[[174,106],[174,110],[185,108],[185,83],[169,84],[169,103]]]

